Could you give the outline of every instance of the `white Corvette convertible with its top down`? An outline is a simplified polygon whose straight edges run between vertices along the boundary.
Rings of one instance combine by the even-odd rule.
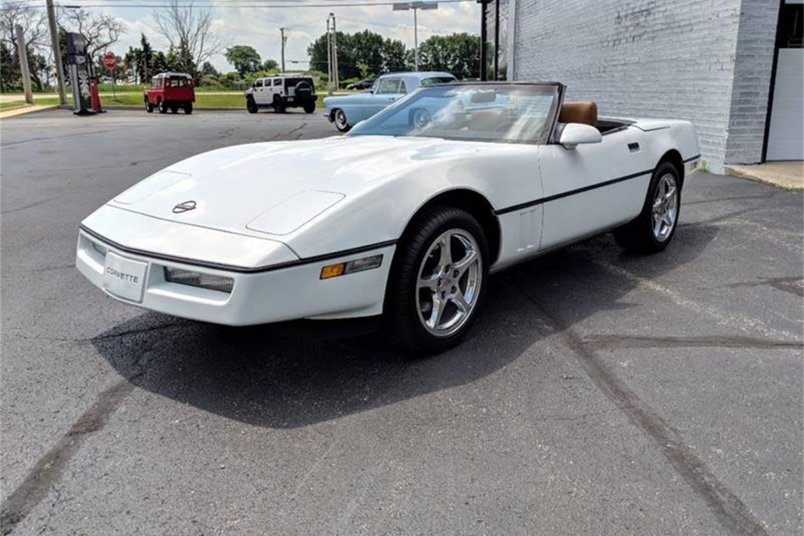
[[[76,266],[109,296],[227,325],[384,314],[438,351],[490,272],[613,231],[673,239],[699,164],[686,121],[599,119],[556,83],[422,88],[343,137],[199,154],[80,225]]]

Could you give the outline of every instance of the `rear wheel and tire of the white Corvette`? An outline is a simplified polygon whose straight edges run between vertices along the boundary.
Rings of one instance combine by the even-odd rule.
[[[662,162],[650,178],[642,212],[636,219],[614,231],[617,244],[630,252],[658,253],[675,236],[681,211],[679,170]]]

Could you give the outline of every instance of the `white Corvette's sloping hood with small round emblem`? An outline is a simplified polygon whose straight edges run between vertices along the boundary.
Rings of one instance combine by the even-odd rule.
[[[487,144],[354,136],[236,145],[169,166],[109,204],[178,223],[281,237],[406,170],[483,150],[476,145]]]

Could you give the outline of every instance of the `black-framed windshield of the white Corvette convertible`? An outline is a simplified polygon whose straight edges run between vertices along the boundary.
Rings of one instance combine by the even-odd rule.
[[[352,129],[351,136],[442,137],[544,143],[558,84],[458,84],[420,88]]]

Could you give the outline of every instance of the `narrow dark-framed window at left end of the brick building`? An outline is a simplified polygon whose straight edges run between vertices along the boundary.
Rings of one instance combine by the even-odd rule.
[[[507,80],[508,0],[478,0],[482,3],[481,80]]]

